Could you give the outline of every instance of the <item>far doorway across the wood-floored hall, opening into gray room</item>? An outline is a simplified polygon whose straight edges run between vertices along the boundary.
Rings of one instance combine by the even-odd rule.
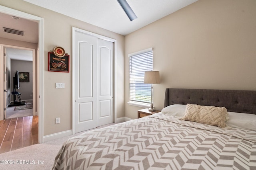
[[[37,115],[35,49],[3,46],[6,54],[4,63],[6,65],[6,111],[4,119],[35,116]],[[19,74],[18,82],[15,80],[16,72]]]

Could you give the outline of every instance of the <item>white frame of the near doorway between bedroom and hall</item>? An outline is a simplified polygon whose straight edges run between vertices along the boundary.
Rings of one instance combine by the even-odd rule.
[[[39,53],[38,53],[38,79],[39,79],[39,93],[38,93],[38,97],[39,97],[39,101],[38,101],[38,142],[39,143],[43,143],[43,135],[44,135],[44,19],[40,18],[38,16],[34,16],[25,12],[21,12],[18,10],[14,10],[12,8],[7,8],[5,6],[1,6],[0,5],[0,12],[4,13],[4,14],[8,14],[8,15],[12,15],[12,16],[17,16],[19,18],[24,18],[26,20],[31,20],[31,21],[35,21],[38,23],[38,49],[39,49]],[[2,60],[2,57],[1,57]],[[0,62],[2,63],[2,62]],[[0,67],[2,64],[0,64]],[[2,74],[0,75],[1,80],[2,79]],[[0,88],[0,90],[4,90],[2,89],[2,86]],[[3,106],[3,98],[2,96],[0,97],[0,106],[2,108]],[[2,115],[2,109],[0,110],[0,114]]]

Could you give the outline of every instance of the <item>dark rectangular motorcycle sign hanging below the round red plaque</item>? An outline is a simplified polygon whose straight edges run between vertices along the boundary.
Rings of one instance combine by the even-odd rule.
[[[48,71],[69,72],[69,55],[58,56],[48,52]]]

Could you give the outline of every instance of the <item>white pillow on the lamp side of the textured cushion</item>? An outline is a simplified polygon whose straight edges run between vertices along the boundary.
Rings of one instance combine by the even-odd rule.
[[[162,113],[175,116],[175,117],[183,117],[185,113],[186,105],[183,104],[173,104],[162,109]]]

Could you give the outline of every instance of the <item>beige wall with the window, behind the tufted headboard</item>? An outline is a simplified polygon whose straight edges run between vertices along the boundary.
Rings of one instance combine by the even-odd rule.
[[[256,90],[256,1],[198,0],[125,36],[125,116],[130,106],[128,54],[153,47],[154,106],[165,88]]]

